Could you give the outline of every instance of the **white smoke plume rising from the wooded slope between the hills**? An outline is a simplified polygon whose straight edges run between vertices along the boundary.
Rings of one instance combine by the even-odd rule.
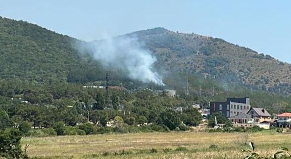
[[[132,79],[144,83],[164,85],[161,76],[153,71],[156,58],[152,52],[141,48],[136,38],[117,37],[94,41],[89,44],[92,57],[105,67],[125,69]]]

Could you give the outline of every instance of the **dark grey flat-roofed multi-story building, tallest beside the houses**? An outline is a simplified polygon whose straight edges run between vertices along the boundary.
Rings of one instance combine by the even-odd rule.
[[[236,116],[240,113],[249,112],[250,98],[226,98],[226,101],[210,102],[210,114],[221,113],[226,118]]]

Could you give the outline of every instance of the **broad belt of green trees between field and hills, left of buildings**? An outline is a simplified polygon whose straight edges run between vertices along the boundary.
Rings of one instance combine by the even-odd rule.
[[[7,114],[4,117],[8,117],[6,122],[2,122],[6,125],[4,127],[18,127],[23,121],[30,122],[34,128],[53,128],[57,122],[75,126],[88,122],[88,114],[89,121],[94,124],[102,125],[100,119],[109,122],[119,116],[127,125],[155,123],[166,125],[170,130],[183,120],[189,126],[198,125],[200,121],[197,111],[194,112],[198,116],[197,121],[186,122],[186,115],[192,116],[193,112],[186,110],[178,114],[174,110],[191,105],[191,100],[169,97],[165,92],[109,89],[106,101],[103,88],[84,88],[81,84],[59,81],[46,81],[39,85],[2,80],[0,88],[0,108]],[[172,114],[174,116],[170,117]],[[176,123],[172,126],[172,121],[165,119]]]

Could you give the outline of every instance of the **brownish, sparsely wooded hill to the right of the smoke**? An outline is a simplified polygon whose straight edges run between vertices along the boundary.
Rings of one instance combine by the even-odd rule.
[[[185,74],[202,73],[224,83],[256,90],[291,93],[291,65],[223,39],[184,34],[164,28],[137,31],[137,37],[158,58],[157,66]]]

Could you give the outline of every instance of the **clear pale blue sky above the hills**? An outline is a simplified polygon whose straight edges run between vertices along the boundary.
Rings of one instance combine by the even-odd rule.
[[[90,41],[164,27],[250,47],[291,63],[291,1],[15,1],[0,16]]]

